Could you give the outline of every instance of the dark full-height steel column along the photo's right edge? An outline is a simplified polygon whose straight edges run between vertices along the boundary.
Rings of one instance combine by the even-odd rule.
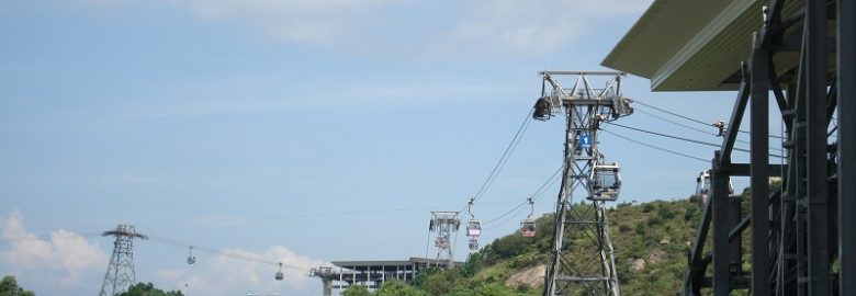
[[[856,294],[856,1],[837,1],[838,293]]]

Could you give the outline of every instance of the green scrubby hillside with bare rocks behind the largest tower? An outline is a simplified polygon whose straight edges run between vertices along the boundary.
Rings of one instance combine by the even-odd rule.
[[[683,284],[686,251],[701,217],[698,205],[688,201],[621,203],[607,212],[621,293],[677,294]],[[536,237],[513,234],[499,238],[471,254],[458,269],[420,273],[410,286],[395,284],[397,295],[540,295],[553,237],[553,216],[544,215],[536,223]],[[592,243],[586,234],[574,228],[567,229],[565,238],[572,246]]]

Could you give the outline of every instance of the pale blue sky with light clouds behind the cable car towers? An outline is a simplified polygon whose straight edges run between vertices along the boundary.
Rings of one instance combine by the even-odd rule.
[[[319,295],[309,267],[432,258],[430,210],[478,191],[540,94],[538,71],[605,70],[650,3],[0,0],[0,275],[38,295],[95,294],[113,248],[101,232],[119,224],[149,236],[134,248],[137,281],[187,295]],[[630,76],[624,95],[730,117],[733,92],[649,83]],[[619,123],[719,143],[637,111]],[[531,196],[561,166],[563,130],[532,122],[473,214],[491,220]],[[686,198],[709,167],[599,140],[621,164],[623,202]],[[533,217],[556,192],[536,198]],[[527,215],[486,225],[482,244]],[[285,281],[275,265],[199,249],[189,265],[188,244],[283,262]]]

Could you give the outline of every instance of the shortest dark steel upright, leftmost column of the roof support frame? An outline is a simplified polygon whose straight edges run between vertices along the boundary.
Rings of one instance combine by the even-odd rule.
[[[740,213],[731,213],[729,179],[722,168],[713,168],[710,174],[712,179],[710,203],[713,209],[713,295],[728,296],[731,294],[729,265],[735,255],[730,252],[729,232],[734,227],[733,216]]]

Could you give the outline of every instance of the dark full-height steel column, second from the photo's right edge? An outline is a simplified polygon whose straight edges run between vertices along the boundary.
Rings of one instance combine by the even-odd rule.
[[[826,171],[826,1],[806,13],[809,295],[830,295],[829,174]]]

